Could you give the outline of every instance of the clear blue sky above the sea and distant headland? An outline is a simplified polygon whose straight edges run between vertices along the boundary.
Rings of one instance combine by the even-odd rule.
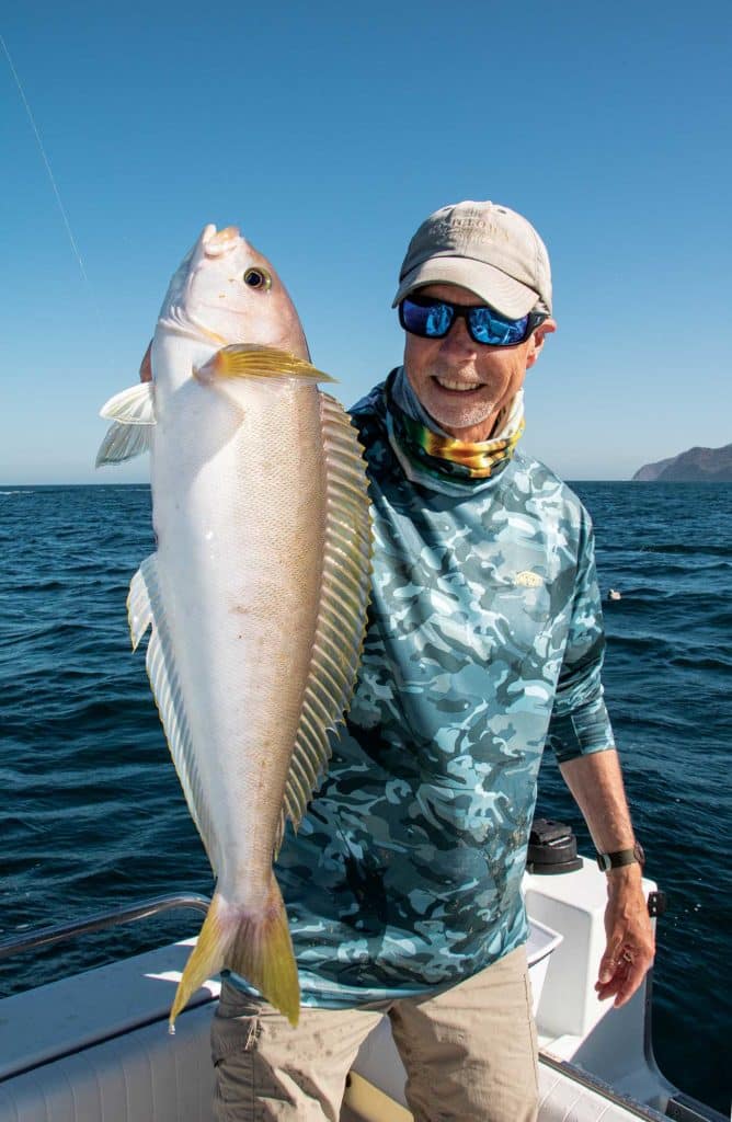
[[[0,35],[89,278],[0,53],[0,485],[147,478],[94,473],[97,412],[210,221],[272,259],[351,403],[401,358],[409,238],[459,199],[549,247],[527,449],[613,479],[732,441],[730,0],[29,0]]]

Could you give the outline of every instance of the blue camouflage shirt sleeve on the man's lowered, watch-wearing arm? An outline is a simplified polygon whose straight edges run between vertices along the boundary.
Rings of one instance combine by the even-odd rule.
[[[594,534],[589,515],[583,509],[567,646],[547,734],[547,744],[560,764],[614,747],[601,681],[604,653]]]

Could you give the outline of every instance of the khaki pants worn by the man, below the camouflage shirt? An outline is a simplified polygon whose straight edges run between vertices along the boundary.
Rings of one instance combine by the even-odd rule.
[[[338,1122],[348,1070],[384,1015],[417,1122],[536,1122],[537,1034],[523,947],[434,996],[302,1009],[296,1029],[225,984],[211,1029],[216,1119]]]

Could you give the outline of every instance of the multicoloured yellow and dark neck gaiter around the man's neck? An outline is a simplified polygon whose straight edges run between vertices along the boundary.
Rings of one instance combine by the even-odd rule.
[[[498,414],[497,434],[474,444],[456,440],[441,430],[436,432],[434,422],[429,426],[424,423],[428,419],[421,408],[422,417],[414,415],[417,408],[410,407],[414,394],[403,367],[390,375],[385,392],[394,435],[402,450],[423,470],[438,477],[487,479],[511,459],[525,426],[523,390],[519,390],[510,408]]]

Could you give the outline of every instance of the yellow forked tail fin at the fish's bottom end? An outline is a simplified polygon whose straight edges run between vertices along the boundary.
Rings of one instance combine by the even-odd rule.
[[[170,1015],[175,1019],[195,991],[219,971],[240,974],[294,1027],[300,1018],[300,982],[280,885],[272,874],[263,909],[245,912],[217,892],[198,941],[185,964]]]

